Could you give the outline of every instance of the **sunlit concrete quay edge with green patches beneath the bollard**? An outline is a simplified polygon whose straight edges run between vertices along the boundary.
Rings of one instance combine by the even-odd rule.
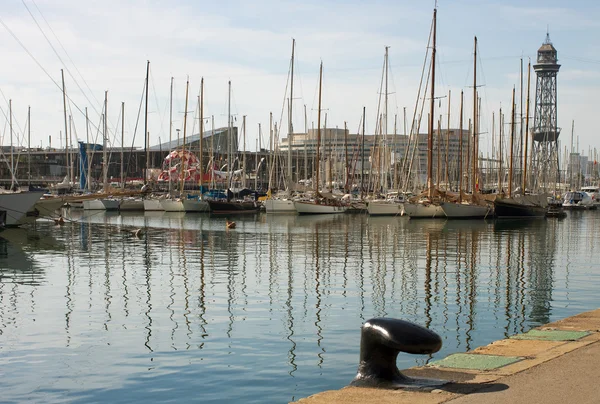
[[[401,372],[450,382],[430,391],[345,387],[296,402],[600,403],[600,309]]]

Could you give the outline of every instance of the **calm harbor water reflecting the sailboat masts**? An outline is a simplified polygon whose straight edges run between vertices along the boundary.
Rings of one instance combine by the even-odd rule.
[[[600,212],[66,215],[0,233],[0,401],[286,403],[347,385],[372,317],[442,336],[407,368],[600,307]]]

